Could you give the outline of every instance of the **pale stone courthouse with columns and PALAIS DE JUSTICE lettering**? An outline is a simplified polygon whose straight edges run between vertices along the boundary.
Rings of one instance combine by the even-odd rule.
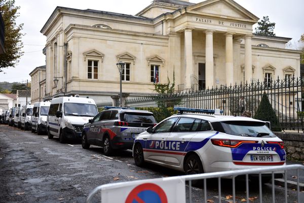
[[[154,0],[136,15],[57,7],[41,30],[44,99],[110,100],[120,92],[119,61],[129,98],[156,93],[154,83],[173,74],[176,91],[299,76],[299,52],[285,49],[291,39],[252,34],[258,20],[233,0]]]

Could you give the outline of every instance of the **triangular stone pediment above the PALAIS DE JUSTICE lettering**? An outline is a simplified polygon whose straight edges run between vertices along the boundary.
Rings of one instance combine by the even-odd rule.
[[[221,18],[236,18],[242,20],[258,21],[258,17],[247,11],[233,0],[207,0],[187,7],[187,11],[215,15]]]

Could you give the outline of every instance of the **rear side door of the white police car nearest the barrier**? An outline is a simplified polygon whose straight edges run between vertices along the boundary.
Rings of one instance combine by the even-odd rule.
[[[180,165],[185,149],[191,139],[197,134],[201,119],[180,117],[166,139],[166,159],[170,165]]]

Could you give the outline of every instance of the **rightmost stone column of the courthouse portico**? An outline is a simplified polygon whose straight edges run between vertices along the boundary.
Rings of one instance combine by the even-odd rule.
[[[251,82],[252,79],[252,50],[251,35],[245,35],[245,82]]]

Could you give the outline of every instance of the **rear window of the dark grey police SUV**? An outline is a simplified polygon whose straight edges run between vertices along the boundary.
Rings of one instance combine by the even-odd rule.
[[[128,123],[156,123],[153,114],[145,113],[123,113],[121,120]]]

